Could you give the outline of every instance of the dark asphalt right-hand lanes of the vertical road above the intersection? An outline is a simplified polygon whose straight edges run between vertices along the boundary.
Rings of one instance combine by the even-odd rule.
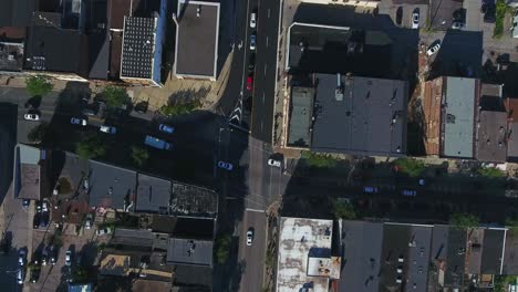
[[[267,143],[272,142],[273,131],[279,7],[279,0],[261,0],[259,1],[257,13],[257,61],[251,135]]]

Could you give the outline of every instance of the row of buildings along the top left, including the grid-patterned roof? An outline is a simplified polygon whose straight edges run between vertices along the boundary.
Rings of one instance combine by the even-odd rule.
[[[169,2],[4,1],[0,74],[160,86],[173,70],[179,79],[216,80],[219,3]]]

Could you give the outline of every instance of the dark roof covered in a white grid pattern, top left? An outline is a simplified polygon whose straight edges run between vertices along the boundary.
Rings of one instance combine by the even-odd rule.
[[[122,77],[153,77],[156,22],[155,18],[124,18]]]

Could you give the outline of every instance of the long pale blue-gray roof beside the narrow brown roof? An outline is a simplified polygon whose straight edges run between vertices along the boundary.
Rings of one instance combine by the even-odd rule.
[[[478,100],[479,82],[475,79],[445,77],[444,84],[442,154],[446,157],[473,158],[475,103]]]

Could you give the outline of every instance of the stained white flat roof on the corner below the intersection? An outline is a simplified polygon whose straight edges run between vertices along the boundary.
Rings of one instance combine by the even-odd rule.
[[[329,290],[329,278],[308,275],[308,263],[310,257],[331,257],[332,230],[332,220],[281,218],[277,291],[299,292],[308,283],[313,292]]]

